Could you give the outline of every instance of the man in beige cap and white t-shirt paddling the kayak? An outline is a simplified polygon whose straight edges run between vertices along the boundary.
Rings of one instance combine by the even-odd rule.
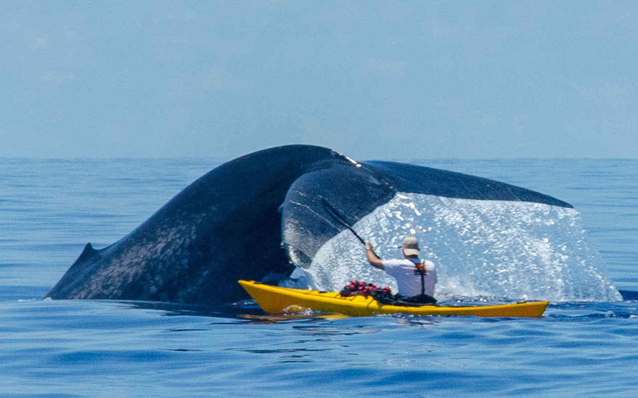
[[[371,266],[383,269],[394,277],[399,286],[399,294],[406,297],[406,301],[422,304],[436,302],[434,286],[436,285],[436,269],[430,260],[419,259],[419,240],[414,236],[403,239],[403,259],[382,260],[372,244],[366,242],[366,256]]]

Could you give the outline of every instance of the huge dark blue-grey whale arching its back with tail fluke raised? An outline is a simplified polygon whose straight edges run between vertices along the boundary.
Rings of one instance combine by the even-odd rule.
[[[468,174],[280,146],[213,169],[114,244],[96,250],[88,243],[47,297],[202,306],[248,299],[237,280],[308,267],[344,229],[322,201],[352,225],[397,192],[572,207]]]

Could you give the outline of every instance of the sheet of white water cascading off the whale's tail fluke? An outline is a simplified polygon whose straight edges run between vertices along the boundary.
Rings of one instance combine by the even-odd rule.
[[[621,300],[573,209],[400,193],[353,227],[384,259],[400,257],[403,238],[417,236],[422,257],[436,264],[440,301]],[[396,292],[396,281],[367,264],[363,246],[349,231],[327,241],[305,272],[310,287],[322,290],[339,290],[356,279]]]

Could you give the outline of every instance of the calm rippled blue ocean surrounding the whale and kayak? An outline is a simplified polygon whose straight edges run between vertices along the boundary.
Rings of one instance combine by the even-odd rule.
[[[638,291],[638,160],[410,162],[573,204],[565,229],[586,255],[572,267],[595,269],[584,271],[582,283],[591,286],[591,271],[611,283],[603,290]],[[507,269],[516,271],[507,283],[481,276],[460,292],[515,296],[527,286],[551,296],[542,318],[275,317],[251,301],[204,310],[41,300],[87,242],[114,243],[218,164],[0,159],[0,397],[635,396],[638,302],[592,292],[551,296],[556,287],[542,290],[524,267]],[[547,253],[541,244],[528,250],[527,257]],[[455,286],[447,285],[450,297],[459,295]]]

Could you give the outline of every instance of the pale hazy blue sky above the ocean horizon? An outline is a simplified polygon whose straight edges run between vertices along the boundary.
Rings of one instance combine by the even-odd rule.
[[[633,1],[3,1],[0,157],[638,157]]]

